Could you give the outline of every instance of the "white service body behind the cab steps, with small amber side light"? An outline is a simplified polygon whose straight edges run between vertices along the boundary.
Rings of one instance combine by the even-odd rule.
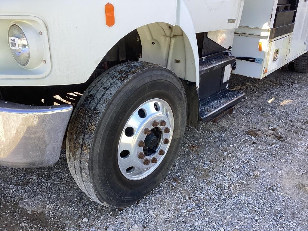
[[[232,53],[236,57],[259,58],[262,63],[237,60],[234,74],[261,79],[308,51],[308,2],[299,0],[293,32],[271,39],[277,6],[278,0],[245,0]],[[278,59],[274,60],[277,50]]]

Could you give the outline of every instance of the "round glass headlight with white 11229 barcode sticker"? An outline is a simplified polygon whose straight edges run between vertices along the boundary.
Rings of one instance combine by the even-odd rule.
[[[26,35],[19,26],[13,25],[9,30],[10,50],[14,59],[22,66],[26,66],[30,59],[29,44]]]

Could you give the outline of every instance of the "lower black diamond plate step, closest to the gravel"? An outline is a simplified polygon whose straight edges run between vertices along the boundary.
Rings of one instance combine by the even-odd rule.
[[[231,109],[232,107],[240,103],[241,99],[243,99],[244,97],[244,93],[227,90],[212,99],[200,103],[200,120],[203,120],[205,122],[210,122],[214,120],[222,113],[225,113],[225,111]]]

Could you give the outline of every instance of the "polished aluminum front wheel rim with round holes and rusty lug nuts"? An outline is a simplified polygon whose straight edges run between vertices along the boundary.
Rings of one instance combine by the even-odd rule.
[[[146,128],[151,131],[150,134]],[[118,164],[122,174],[129,180],[141,180],[150,175],[168,155],[173,128],[173,113],[166,101],[150,99],[141,104],[132,113],[121,133]],[[141,141],[149,146],[143,147]],[[145,155],[144,158],[140,153]]]

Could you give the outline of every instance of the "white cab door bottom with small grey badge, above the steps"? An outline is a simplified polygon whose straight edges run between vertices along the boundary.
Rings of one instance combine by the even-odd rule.
[[[183,0],[196,33],[235,29],[241,21],[244,0]]]

